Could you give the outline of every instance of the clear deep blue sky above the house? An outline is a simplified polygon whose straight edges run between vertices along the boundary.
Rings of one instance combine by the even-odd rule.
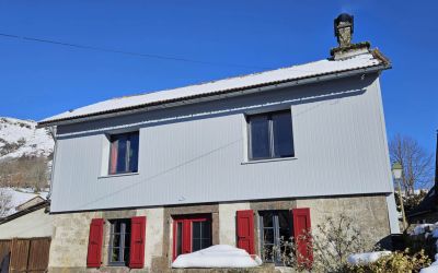
[[[0,37],[0,116],[38,120],[106,98],[323,59],[336,45],[333,19],[341,12],[355,15],[355,41],[370,40],[393,62],[381,79],[389,136],[407,134],[434,151],[438,3],[433,0],[0,0],[0,33],[224,63]]]

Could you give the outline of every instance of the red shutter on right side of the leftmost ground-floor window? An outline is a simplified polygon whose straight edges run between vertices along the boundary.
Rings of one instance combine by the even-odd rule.
[[[130,219],[129,268],[142,269],[145,265],[146,216]]]

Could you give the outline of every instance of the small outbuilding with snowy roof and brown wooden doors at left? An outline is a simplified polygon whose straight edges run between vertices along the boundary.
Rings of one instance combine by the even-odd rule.
[[[49,202],[41,199],[0,219],[1,272],[46,272],[54,226]]]

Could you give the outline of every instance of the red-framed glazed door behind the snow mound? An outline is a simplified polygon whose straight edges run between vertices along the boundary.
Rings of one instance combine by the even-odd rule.
[[[173,259],[211,246],[210,215],[174,217]]]

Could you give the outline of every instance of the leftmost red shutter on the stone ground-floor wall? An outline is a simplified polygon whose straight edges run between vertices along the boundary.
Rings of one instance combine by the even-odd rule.
[[[103,218],[94,218],[90,224],[88,268],[100,268],[102,259]]]

